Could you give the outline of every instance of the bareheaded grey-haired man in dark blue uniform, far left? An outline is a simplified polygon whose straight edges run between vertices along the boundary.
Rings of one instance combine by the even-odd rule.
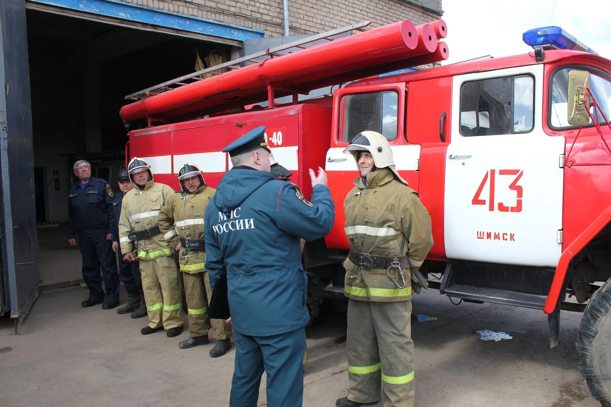
[[[79,182],[72,185],[68,197],[68,243],[75,246],[78,233],[82,278],[89,288],[89,298],[82,301],[81,306],[103,303],[103,309],[112,309],[119,305],[120,288],[117,261],[111,247],[114,193],[108,181],[91,176],[91,165],[86,160],[75,162],[73,170]],[[104,275],[106,298],[100,268]]]

